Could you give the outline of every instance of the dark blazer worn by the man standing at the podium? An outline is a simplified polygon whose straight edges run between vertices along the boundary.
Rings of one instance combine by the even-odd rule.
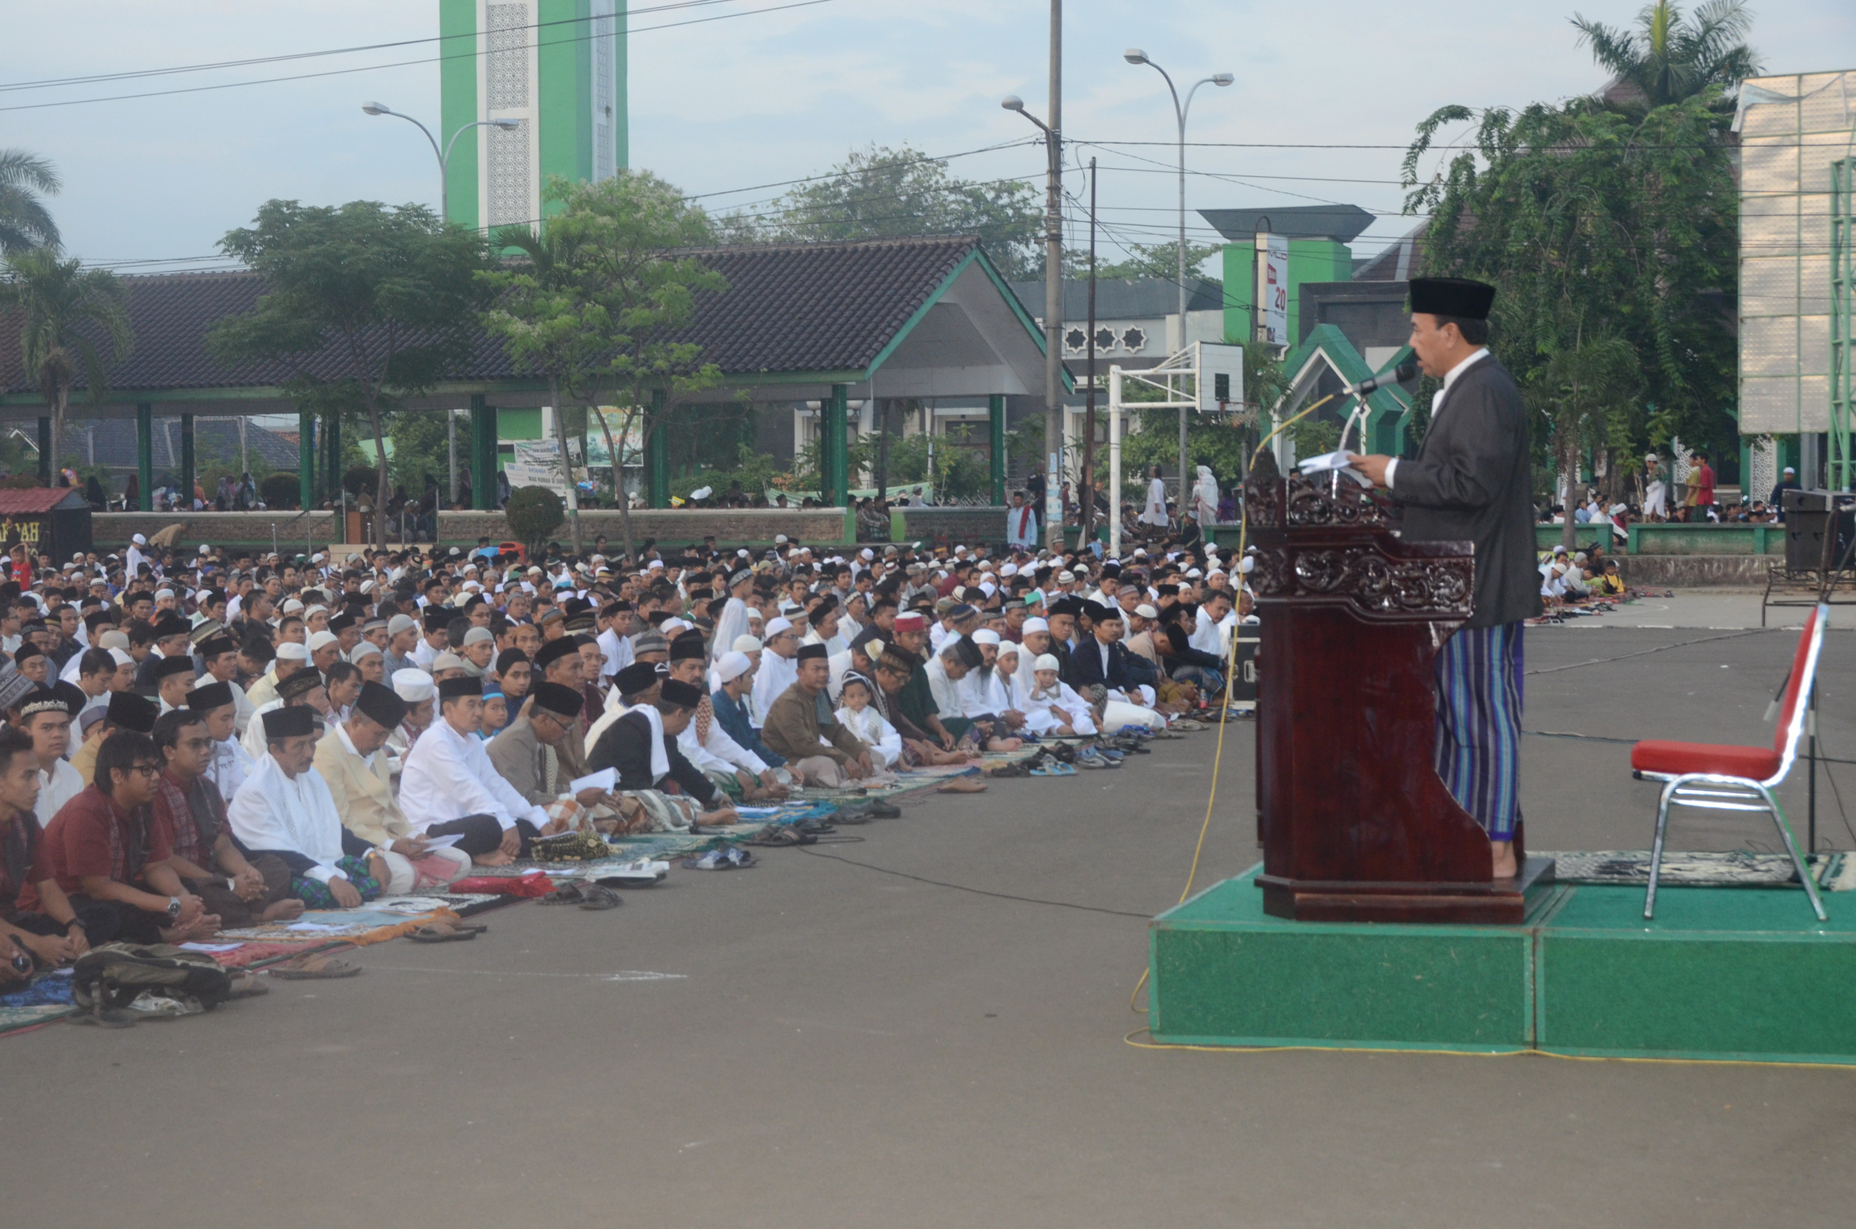
[[[1494,355],[1450,386],[1418,455],[1398,462],[1392,498],[1405,505],[1407,542],[1476,544],[1468,627],[1540,613],[1527,410]]]

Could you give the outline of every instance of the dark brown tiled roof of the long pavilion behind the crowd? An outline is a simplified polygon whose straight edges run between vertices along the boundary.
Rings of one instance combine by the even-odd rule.
[[[843,371],[865,368],[974,249],[971,236],[859,243],[765,243],[692,249],[728,278],[729,291],[700,295],[679,336],[702,360],[729,373]],[[221,364],[206,332],[252,310],[256,273],[124,277],[135,345],[110,371],[121,392],[282,384],[284,364]],[[327,368],[336,373],[334,362]],[[479,334],[458,381],[520,379],[501,342]],[[80,384],[82,388],[82,384]],[[19,355],[17,316],[0,314],[0,392],[35,392]]]

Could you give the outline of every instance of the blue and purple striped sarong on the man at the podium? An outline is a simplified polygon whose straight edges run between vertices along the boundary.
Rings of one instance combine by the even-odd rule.
[[[1490,841],[1520,821],[1522,624],[1459,627],[1437,653],[1437,774]]]

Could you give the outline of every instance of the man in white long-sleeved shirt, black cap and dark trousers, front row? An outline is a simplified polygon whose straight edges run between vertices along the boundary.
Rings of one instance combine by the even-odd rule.
[[[458,835],[457,848],[499,867],[525,858],[529,841],[564,822],[523,798],[490,763],[483,724],[483,679],[438,685],[438,720],[419,735],[399,774],[399,806],[416,835]]]

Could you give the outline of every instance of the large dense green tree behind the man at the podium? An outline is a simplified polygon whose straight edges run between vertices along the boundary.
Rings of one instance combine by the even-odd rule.
[[[1735,343],[1719,301],[1737,290],[1739,193],[1717,100],[1708,85],[1641,117],[1591,98],[1492,108],[1474,147],[1418,184],[1437,130],[1477,119],[1448,106],[1405,154],[1405,208],[1431,213],[1425,273],[1498,286],[1494,340],[1524,390],[1579,338],[1630,347],[1656,416],[1631,431],[1620,421],[1607,438],[1732,436]]]

